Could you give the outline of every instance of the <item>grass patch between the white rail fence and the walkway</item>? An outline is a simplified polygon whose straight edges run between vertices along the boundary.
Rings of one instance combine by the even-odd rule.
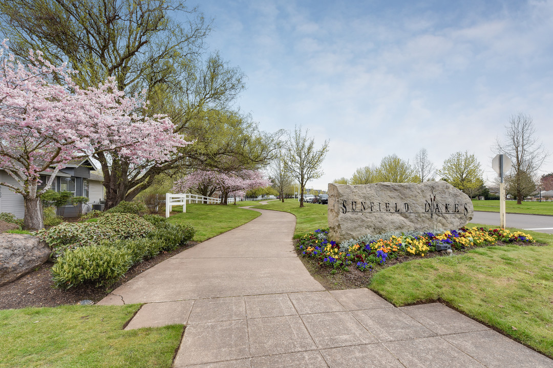
[[[182,206],[174,206],[173,211],[181,212]],[[244,225],[259,216],[259,212],[249,211],[234,205],[188,204],[186,213],[169,217],[171,223],[190,223],[196,234],[194,241],[203,242],[218,234]]]

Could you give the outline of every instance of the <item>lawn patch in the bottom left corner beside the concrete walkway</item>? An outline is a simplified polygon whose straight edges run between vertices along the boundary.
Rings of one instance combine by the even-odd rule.
[[[0,368],[166,367],[182,325],[124,331],[140,306],[60,306],[0,311]]]

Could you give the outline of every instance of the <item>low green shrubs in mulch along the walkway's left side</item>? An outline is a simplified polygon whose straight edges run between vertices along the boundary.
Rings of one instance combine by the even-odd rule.
[[[37,232],[54,248],[55,287],[109,286],[133,264],[174,250],[195,233],[190,225],[173,225],[156,215],[102,214],[94,220]]]

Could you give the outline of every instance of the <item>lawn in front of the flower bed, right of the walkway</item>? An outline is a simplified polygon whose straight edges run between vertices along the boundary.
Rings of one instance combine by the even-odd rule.
[[[553,358],[553,235],[385,268],[370,289],[396,306],[442,300]]]

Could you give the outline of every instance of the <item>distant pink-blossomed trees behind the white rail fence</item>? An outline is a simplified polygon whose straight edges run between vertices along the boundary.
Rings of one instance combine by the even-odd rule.
[[[227,204],[229,197],[242,197],[249,189],[269,186],[271,182],[263,178],[257,170],[241,170],[236,174],[196,170],[185,178],[179,179],[173,186],[175,193],[194,190],[203,196],[212,196],[216,191],[221,194],[221,204]]]

